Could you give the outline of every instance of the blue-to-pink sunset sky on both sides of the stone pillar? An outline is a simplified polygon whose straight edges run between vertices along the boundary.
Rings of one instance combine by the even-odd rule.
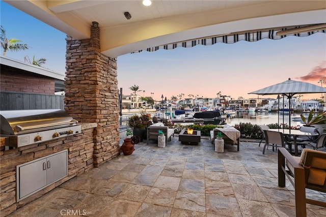
[[[32,59],[35,55],[36,59],[46,59],[43,67],[65,74],[66,34],[4,2],[0,7],[1,25],[7,37],[22,40],[31,47],[8,51],[6,57],[24,61],[25,56]],[[185,97],[189,94],[216,97],[218,92],[235,99],[255,98],[257,95],[248,93],[289,77],[318,86],[319,79],[326,81],[326,34],[160,49],[118,57],[118,88],[123,88],[123,94],[130,94],[129,87],[137,85],[142,90],[139,95],[154,93],[156,100],[162,94],[167,98],[181,93]],[[303,98],[320,96],[306,94]]]

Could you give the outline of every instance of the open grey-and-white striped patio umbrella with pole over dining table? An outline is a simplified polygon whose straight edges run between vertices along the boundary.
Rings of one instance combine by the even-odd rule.
[[[289,99],[289,125],[291,128],[291,98],[295,94],[303,93],[326,93],[326,88],[319,87],[307,82],[297,82],[296,80],[291,80],[289,78],[285,82],[271,85],[269,87],[250,92],[249,94],[258,94],[258,95],[277,95],[283,94]],[[290,129],[291,132],[291,129]]]

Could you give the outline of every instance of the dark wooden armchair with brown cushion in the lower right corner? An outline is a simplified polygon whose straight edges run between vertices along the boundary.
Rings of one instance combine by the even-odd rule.
[[[296,216],[307,216],[307,203],[326,207],[326,202],[306,198],[306,188],[326,193],[326,152],[305,148],[295,157],[279,148],[278,175],[279,186],[285,187],[285,177],[294,186]]]

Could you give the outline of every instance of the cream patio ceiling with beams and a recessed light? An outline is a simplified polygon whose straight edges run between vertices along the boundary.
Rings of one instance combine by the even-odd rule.
[[[98,22],[101,52],[108,57],[140,50],[189,47],[194,45],[195,39],[202,38],[215,37],[216,42],[225,42],[224,36],[234,38],[235,33],[242,34],[239,40],[246,40],[246,33],[253,30],[258,34],[269,34],[272,30],[275,36],[277,31],[288,26],[326,23],[324,1],[167,0],[152,1],[149,7],[141,0],[4,2],[75,39],[90,38],[92,21]],[[125,18],[125,12],[130,13],[130,19]],[[325,32],[325,29],[319,31]],[[300,36],[305,34],[308,35]],[[256,35],[250,37],[256,38]],[[211,39],[202,44],[213,43]]]

